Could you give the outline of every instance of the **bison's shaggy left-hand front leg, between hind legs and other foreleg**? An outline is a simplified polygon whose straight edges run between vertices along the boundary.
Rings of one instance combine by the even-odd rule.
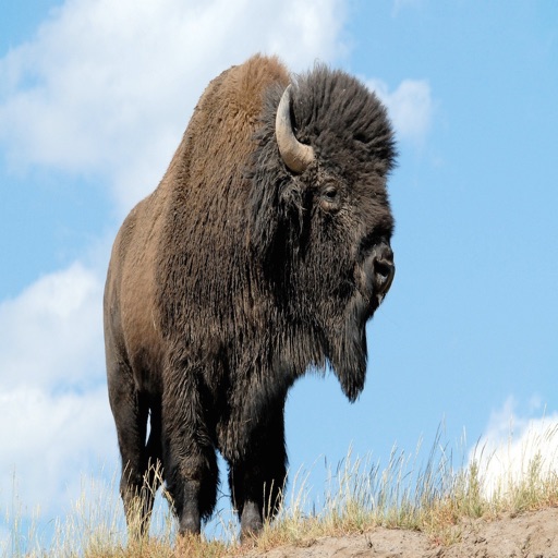
[[[165,478],[183,535],[198,534],[211,515],[219,474],[199,393],[184,384],[184,391],[165,398],[162,410]]]

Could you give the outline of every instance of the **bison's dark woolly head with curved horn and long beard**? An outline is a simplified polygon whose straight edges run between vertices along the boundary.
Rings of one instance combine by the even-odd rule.
[[[268,92],[256,157],[252,243],[263,275],[288,319],[312,331],[315,364],[328,361],[353,400],[365,324],[395,274],[386,110],[359,81],[316,68]]]

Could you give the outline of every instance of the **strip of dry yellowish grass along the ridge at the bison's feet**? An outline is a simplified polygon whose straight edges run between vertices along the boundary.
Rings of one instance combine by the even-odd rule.
[[[546,433],[538,439],[543,445]],[[56,527],[53,541],[41,546],[33,526],[24,526],[17,510],[8,518],[10,541],[0,556],[8,558],[179,558],[242,556],[247,547],[265,551],[286,544],[303,546],[322,536],[365,533],[377,525],[417,530],[440,544],[460,539],[466,519],[496,518],[558,505],[558,476],[546,466],[541,451],[531,452],[521,474],[505,474],[487,482],[490,459],[484,449],[475,451],[468,464],[453,470],[451,454],[437,436],[424,468],[416,453],[405,457],[396,449],[385,469],[371,458],[351,452],[329,475],[324,506],[312,510],[308,475],[299,473],[277,519],[266,524],[252,544],[240,546],[236,524],[221,518],[222,539],[179,538],[175,521],[162,498],[153,514],[151,536],[126,542],[121,504],[113,487],[94,482],[84,486],[64,523]],[[525,458],[525,456],[524,456]],[[25,534],[24,534],[25,531]]]

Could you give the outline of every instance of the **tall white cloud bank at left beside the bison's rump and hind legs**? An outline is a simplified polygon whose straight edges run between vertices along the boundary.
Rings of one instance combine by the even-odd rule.
[[[78,497],[81,473],[116,466],[101,293],[97,275],[75,263],[0,304],[0,501],[60,511]]]

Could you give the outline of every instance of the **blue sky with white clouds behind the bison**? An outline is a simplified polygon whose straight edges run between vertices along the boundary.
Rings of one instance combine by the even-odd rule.
[[[397,276],[364,393],[294,386],[292,470],[319,495],[350,446],[386,462],[442,424],[466,456],[558,423],[558,4],[274,4],[25,0],[0,20],[0,468],[45,524],[81,475],[118,469],[101,330],[116,231],[208,81],[255,51],[361,77],[400,149]],[[2,514],[12,494],[4,474]]]

